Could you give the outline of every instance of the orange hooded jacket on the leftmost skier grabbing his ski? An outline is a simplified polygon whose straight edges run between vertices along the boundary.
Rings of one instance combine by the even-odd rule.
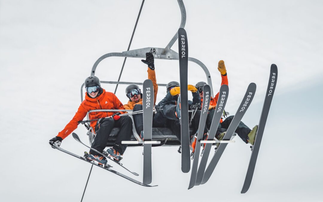
[[[71,134],[78,127],[78,122],[82,121],[90,110],[125,109],[115,94],[113,94],[112,92],[106,92],[104,89],[102,90],[103,93],[96,98],[91,98],[88,96],[88,93],[85,93],[85,100],[83,100],[78,107],[78,111],[75,113],[73,119],[65,126],[65,128],[61,132],[58,133],[58,137],[64,139],[69,134]],[[89,119],[100,119],[111,116],[114,113],[116,112],[91,112],[89,113]],[[120,113],[123,114],[124,112]],[[96,124],[97,121],[90,122],[90,125],[93,129],[95,128]]]

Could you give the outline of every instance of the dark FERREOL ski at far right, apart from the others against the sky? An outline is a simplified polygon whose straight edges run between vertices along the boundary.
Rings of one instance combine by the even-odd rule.
[[[269,77],[268,87],[266,91],[266,97],[265,97],[263,109],[259,120],[258,130],[256,132],[255,143],[252,146],[251,157],[248,165],[247,174],[245,176],[245,182],[241,190],[241,194],[244,194],[248,191],[251,184],[252,177],[254,175],[261,139],[264,134],[268,112],[269,112],[271,101],[273,100],[273,96],[276,88],[277,74],[278,74],[277,66],[275,64],[272,64],[270,67],[270,77]]]

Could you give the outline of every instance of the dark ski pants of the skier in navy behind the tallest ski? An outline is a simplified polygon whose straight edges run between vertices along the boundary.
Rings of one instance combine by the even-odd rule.
[[[181,123],[175,115],[176,105],[165,105],[161,111],[158,111],[157,114],[153,117],[153,127],[167,127],[176,135],[178,140],[181,142]],[[163,118],[161,118],[163,114]],[[189,120],[191,119],[192,112],[189,113]],[[193,134],[196,133],[199,127],[201,117],[201,111],[197,110],[193,120]],[[207,128],[204,127],[204,133],[207,133]],[[189,134],[188,134],[189,135]]]

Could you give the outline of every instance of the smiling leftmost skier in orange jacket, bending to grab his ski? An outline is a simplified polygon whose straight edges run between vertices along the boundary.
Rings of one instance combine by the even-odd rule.
[[[78,122],[82,121],[90,110],[125,109],[115,94],[113,94],[112,92],[107,92],[101,88],[100,80],[98,77],[88,77],[85,80],[85,89],[87,91],[85,93],[85,100],[82,101],[82,103],[78,107],[78,111],[74,115],[73,119],[65,126],[65,128],[61,132],[58,133],[56,137],[49,140],[49,144],[59,147],[63,139],[65,139],[78,127]],[[90,123],[92,132],[96,134],[91,148],[101,153],[106,147],[112,128],[120,127],[120,132],[117,136],[115,145],[107,150],[109,157],[113,158],[116,161],[121,160],[122,154],[127,147],[126,144],[121,144],[121,141],[129,141],[132,134],[131,118],[129,116],[119,116],[123,113],[124,112],[89,113],[90,120],[99,119],[98,121],[92,121]],[[111,116],[111,118],[106,118],[108,116]],[[100,164],[107,163],[107,159],[94,150],[90,150],[88,158],[89,160],[97,161]]]

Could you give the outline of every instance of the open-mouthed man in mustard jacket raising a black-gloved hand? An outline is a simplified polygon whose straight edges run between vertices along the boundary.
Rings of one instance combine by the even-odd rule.
[[[158,85],[156,81],[154,55],[151,52],[146,53],[146,60],[141,60],[143,63],[148,65],[148,79],[152,81],[154,86],[154,105],[156,103]],[[126,96],[129,98],[128,104],[123,105],[126,110],[132,110],[137,112],[142,110],[142,93],[139,86],[131,84],[126,88]],[[143,137],[143,113],[133,114],[133,122],[136,128],[136,132],[142,138]]]

